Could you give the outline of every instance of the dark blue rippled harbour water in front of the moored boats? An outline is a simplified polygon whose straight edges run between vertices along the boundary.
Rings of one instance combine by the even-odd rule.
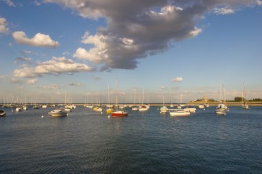
[[[0,117],[0,173],[262,173],[262,107],[214,107],[189,117],[128,109],[128,117],[77,107]],[[44,116],[41,118],[41,116]]]

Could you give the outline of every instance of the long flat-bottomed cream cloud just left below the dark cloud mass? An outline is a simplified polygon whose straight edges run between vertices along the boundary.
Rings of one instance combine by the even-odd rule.
[[[50,61],[39,62],[37,66],[26,66],[14,70],[15,77],[42,77],[43,75],[61,75],[62,73],[90,72],[94,68],[87,64],[80,64],[66,59],[66,57],[53,57]]]

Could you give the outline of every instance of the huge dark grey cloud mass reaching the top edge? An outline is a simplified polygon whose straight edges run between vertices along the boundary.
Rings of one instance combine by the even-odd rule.
[[[86,32],[74,57],[106,68],[133,69],[137,59],[163,52],[170,41],[196,37],[196,23],[206,12],[232,14],[240,6],[261,5],[260,0],[45,0],[71,8],[81,17],[107,21],[95,35]]]

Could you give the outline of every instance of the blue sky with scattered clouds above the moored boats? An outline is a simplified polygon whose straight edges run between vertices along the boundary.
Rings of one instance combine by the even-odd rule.
[[[0,101],[219,100],[221,81],[234,99],[243,79],[262,98],[261,17],[261,0],[0,0]]]

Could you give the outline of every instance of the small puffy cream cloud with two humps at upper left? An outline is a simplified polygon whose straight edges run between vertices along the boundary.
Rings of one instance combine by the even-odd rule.
[[[12,33],[12,37],[17,43],[26,44],[29,46],[38,46],[38,47],[54,47],[57,48],[59,46],[58,41],[53,41],[49,35],[44,35],[41,33],[37,33],[31,39],[26,36],[25,32],[17,31]]]

